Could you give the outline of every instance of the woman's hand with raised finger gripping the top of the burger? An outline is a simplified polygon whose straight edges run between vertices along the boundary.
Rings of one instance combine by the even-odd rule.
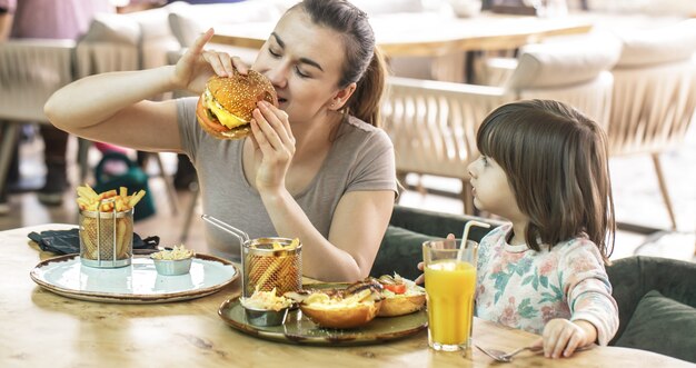
[[[212,34],[215,34],[212,28],[201,34],[177,62],[173,83],[178,88],[200,95],[206,88],[206,82],[213,74],[227,77],[233,72],[235,68],[242,74],[249,70],[238,57],[230,57],[226,52],[215,50],[203,50]]]

